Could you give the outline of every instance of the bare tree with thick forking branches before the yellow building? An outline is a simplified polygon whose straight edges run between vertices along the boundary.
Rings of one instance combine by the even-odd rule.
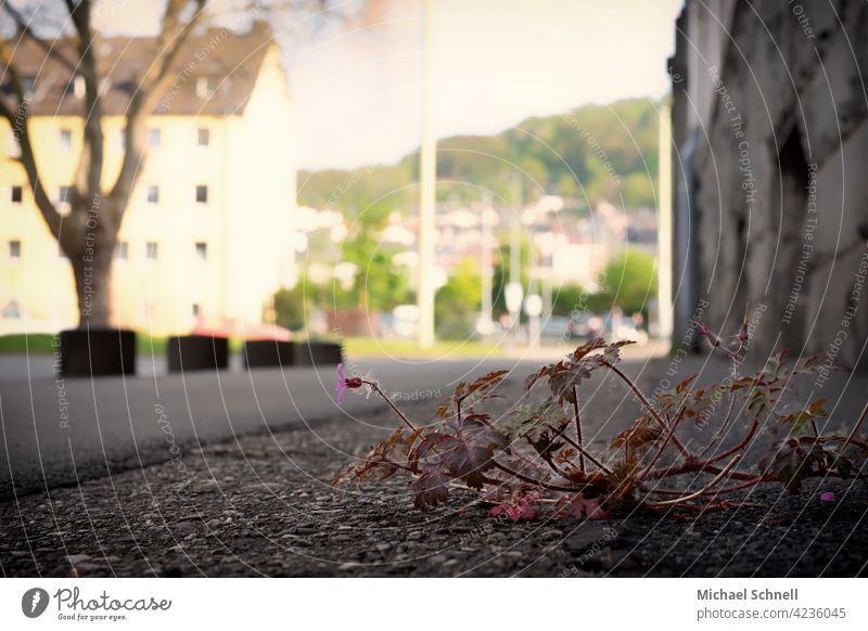
[[[110,318],[110,274],[117,234],[133,188],[146,158],[146,120],[173,80],[171,66],[191,31],[204,16],[207,0],[167,0],[157,36],[156,53],[136,82],[124,115],[124,156],[113,182],[104,181],[102,77],[97,59],[99,33],[95,30],[92,0],[65,0],[74,44],[55,46],[43,39],[27,17],[9,1],[3,11],[15,24],[16,40],[0,40],[2,72],[12,87],[16,103],[0,98],[0,116],[15,131],[21,163],[40,215],[51,234],[69,259],[75,275],[79,326],[105,326]],[[23,77],[16,68],[12,44],[28,38],[84,81],[84,138],[72,191],[66,202],[69,213],[62,216],[46,192],[34,153],[29,103]]]

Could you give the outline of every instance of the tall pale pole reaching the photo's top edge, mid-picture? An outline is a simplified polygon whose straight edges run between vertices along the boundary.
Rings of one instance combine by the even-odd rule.
[[[419,166],[419,345],[434,344],[434,237],[437,141],[431,128],[431,17],[433,0],[424,0],[422,17],[422,144]]]

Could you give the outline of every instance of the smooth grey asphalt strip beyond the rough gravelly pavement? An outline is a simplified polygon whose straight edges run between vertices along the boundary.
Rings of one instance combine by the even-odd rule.
[[[514,360],[360,361],[398,401],[439,398],[455,385]],[[0,499],[177,459],[192,447],[350,420],[373,399],[334,402],[334,366],[206,371],[163,376],[0,381]]]

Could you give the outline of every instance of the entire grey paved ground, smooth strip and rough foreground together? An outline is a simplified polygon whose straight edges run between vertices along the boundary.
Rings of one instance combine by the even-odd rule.
[[[361,362],[359,362],[361,363]],[[419,422],[457,381],[514,369],[508,401],[536,363],[370,362],[386,392]],[[653,391],[725,362],[626,361]],[[350,366],[352,370],[352,366]],[[337,408],[332,368],[68,379],[68,427],[58,384],[0,383],[0,569],[4,576],[857,576],[866,572],[868,492],[857,480],[777,485],[753,504],[698,521],[493,519],[457,491],[412,510],[408,481],[334,489],[334,475],[396,426],[356,392]],[[868,391],[841,375],[821,396],[832,424],[851,422]],[[805,392],[807,394],[807,392]],[[586,439],[602,452],[637,413],[623,385],[582,388]],[[171,439],[169,440],[169,437]],[[752,466],[744,463],[745,467]],[[14,481],[13,491],[11,481]],[[50,488],[46,491],[46,486]],[[41,489],[41,490],[40,490]],[[819,502],[819,491],[835,502]]]

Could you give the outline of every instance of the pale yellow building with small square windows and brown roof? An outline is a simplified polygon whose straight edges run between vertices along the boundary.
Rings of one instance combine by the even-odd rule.
[[[107,64],[107,188],[123,158],[123,115],[156,41],[98,46]],[[42,182],[62,209],[79,155],[82,86],[31,42],[18,44],[13,63],[28,91]],[[263,321],[270,296],[295,274],[294,134],[280,51],[260,23],[245,34],[209,29],[190,39],[174,72],[149,119],[148,159],[120,228],[112,323],[154,335],[242,331]],[[4,120],[0,141],[0,333],[75,326],[72,267],[11,159],[17,144]]]

